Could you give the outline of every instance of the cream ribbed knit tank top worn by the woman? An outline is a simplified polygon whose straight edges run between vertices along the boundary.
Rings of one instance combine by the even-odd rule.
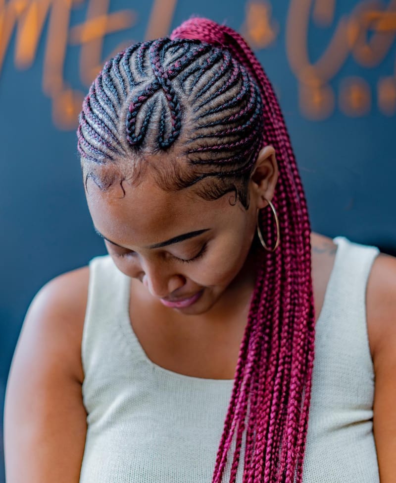
[[[316,323],[303,482],[378,483],[365,312],[378,248],[334,241],[337,254]],[[210,483],[233,381],[185,376],[149,361],[131,326],[129,294],[130,279],[109,256],[91,261],[80,483]],[[229,468],[223,481],[228,478]]]

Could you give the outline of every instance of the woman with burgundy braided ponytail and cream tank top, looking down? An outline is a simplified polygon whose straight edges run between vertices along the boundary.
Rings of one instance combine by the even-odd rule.
[[[131,46],[78,139],[109,256],[29,309],[7,482],[393,481],[396,261],[311,234],[245,41],[196,18]]]

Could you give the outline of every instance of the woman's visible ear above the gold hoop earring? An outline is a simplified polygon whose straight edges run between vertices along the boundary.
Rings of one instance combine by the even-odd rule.
[[[265,146],[258,153],[250,176],[251,196],[254,197],[257,208],[265,208],[268,204],[265,200],[272,200],[278,173],[275,149],[272,146]]]

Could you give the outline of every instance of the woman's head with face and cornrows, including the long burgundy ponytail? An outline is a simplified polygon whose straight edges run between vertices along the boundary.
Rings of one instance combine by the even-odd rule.
[[[106,63],[85,99],[78,137],[94,223],[121,245],[107,241],[120,269],[158,297],[203,286],[215,303],[243,268],[257,212],[274,246],[272,212],[263,209],[272,198],[281,246],[257,256],[213,482],[222,481],[231,452],[235,481],[243,440],[244,481],[300,482],[314,341],[310,227],[288,132],[258,60],[232,29],[192,19],[170,39]],[[195,231],[165,250],[151,246]],[[213,266],[202,256],[198,276],[195,262],[180,259],[199,255],[205,241]],[[119,261],[116,250],[136,250],[140,263]]]

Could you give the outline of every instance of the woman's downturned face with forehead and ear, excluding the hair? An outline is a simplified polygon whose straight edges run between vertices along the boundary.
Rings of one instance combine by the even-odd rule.
[[[167,156],[147,155],[144,162],[166,164]],[[247,208],[235,203],[233,194],[207,200],[194,187],[165,190],[149,171],[136,185],[124,181],[104,191],[89,178],[87,200],[118,268],[143,282],[154,303],[174,306],[172,302],[197,296],[193,304],[175,306],[185,314],[201,314],[216,302],[216,311],[221,310],[235,297],[232,289],[244,279],[240,272],[255,234],[257,210],[272,197],[276,180],[274,149],[268,146],[255,161]],[[251,290],[254,272],[246,283]]]

